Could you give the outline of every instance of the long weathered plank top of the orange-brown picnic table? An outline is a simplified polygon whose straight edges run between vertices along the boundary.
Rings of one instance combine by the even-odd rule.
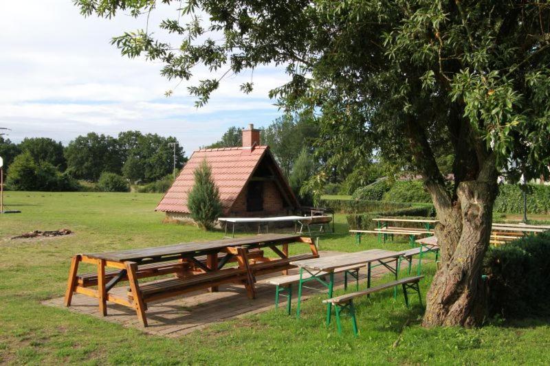
[[[253,236],[250,238],[225,238],[210,242],[188,242],[173,245],[165,245],[162,247],[150,247],[142,249],[128,249],[124,251],[109,251],[103,253],[88,253],[83,254],[88,258],[96,258],[109,260],[113,262],[139,262],[148,258],[161,258],[167,255],[185,255],[193,253],[207,253],[208,251],[216,251],[227,247],[241,247],[252,244],[271,243],[278,244],[282,242],[298,241],[299,235],[281,235],[281,234],[264,234]]]

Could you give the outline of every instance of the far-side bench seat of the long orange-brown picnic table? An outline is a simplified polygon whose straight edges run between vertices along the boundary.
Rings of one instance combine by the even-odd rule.
[[[218,260],[221,260],[225,257],[226,253],[218,253]],[[248,252],[248,258],[251,260],[263,260],[263,250],[261,249],[252,249]],[[203,265],[206,265],[206,255],[199,255],[195,258]],[[228,262],[236,262],[236,258],[232,257]],[[170,273],[176,273],[184,275],[186,271],[202,271],[197,264],[194,262],[180,262],[180,261],[170,261],[170,262],[159,262],[153,264],[144,264],[137,267],[137,278],[145,277],[154,277],[159,275],[168,275]],[[110,270],[105,271],[105,280],[109,282],[116,275],[120,273],[119,270]],[[82,287],[91,287],[98,285],[98,273],[80,273],[76,275],[76,280],[78,286]],[[126,275],[122,276],[120,281],[128,281]]]

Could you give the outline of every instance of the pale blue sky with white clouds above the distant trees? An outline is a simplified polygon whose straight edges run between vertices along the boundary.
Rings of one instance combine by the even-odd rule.
[[[141,130],[175,136],[186,152],[205,146],[230,126],[267,126],[281,115],[267,93],[287,80],[283,69],[254,71],[254,91],[239,85],[250,72],[224,78],[210,102],[195,108],[186,87],[213,78],[205,68],[189,82],[160,76],[162,64],[130,59],[110,44],[113,36],[144,28],[146,18],[118,14],[113,19],[85,18],[71,0],[2,1],[0,12],[0,127],[8,138],[50,137],[68,144],[91,131],[118,135]],[[149,30],[177,45],[153,25],[177,18],[175,6],[159,5]]]

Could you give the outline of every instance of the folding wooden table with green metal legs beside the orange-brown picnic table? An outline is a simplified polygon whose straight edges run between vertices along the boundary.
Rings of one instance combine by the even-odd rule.
[[[300,304],[302,298],[302,288],[306,282],[317,281],[323,286],[329,289],[328,298],[330,299],[333,294],[334,287],[334,270],[337,268],[344,268],[349,266],[355,266],[358,264],[366,264],[366,286],[371,287],[371,269],[374,262],[378,262],[377,265],[382,265],[395,275],[397,279],[398,273],[398,260],[401,254],[397,251],[386,251],[384,249],[369,249],[368,251],[358,251],[354,253],[344,253],[340,255],[331,255],[329,257],[315,258],[311,260],[302,260],[299,262],[291,262],[294,266],[300,268],[300,281],[298,282],[298,304],[296,307],[296,316],[300,317]],[[392,267],[389,264],[395,261],[395,266]],[[307,273],[307,277],[304,274]],[[327,282],[323,277],[329,277]],[[331,304],[327,304],[327,319],[330,319]],[[329,320],[327,320],[329,321]]]

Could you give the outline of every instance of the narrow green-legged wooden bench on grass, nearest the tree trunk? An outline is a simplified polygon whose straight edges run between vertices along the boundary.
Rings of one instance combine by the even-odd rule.
[[[418,293],[418,298],[420,300],[420,305],[422,304],[422,295],[420,293],[420,286],[419,282],[424,276],[415,276],[415,277],[405,277],[401,279],[397,279],[392,282],[388,282],[386,284],[382,284],[379,286],[367,288],[363,291],[358,291],[356,293],[349,293],[346,295],[340,295],[337,297],[333,297],[331,299],[323,300],[322,302],[324,304],[332,304],[334,305],[334,310],[336,312],[336,325],[338,326],[338,333],[342,334],[342,324],[340,322],[340,314],[342,311],[347,310],[351,316],[351,321],[353,325],[353,334],[355,336],[358,335],[358,327],[357,327],[357,319],[355,318],[355,308],[353,306],[353,299],[356,299],[358,297],[363,297],[366,295],[370,295],[371,293],[377,293],[378,291],[386,290],[388,288],[393,288],[395,286],[401,285],[403,288],[403,296],[405,298],[405,304],[408,308],[408,293],[407,290],[410,288],[411,290],[415,290]],[[331,312],[327,313],[327,324],[330,324],[331,321]]]

